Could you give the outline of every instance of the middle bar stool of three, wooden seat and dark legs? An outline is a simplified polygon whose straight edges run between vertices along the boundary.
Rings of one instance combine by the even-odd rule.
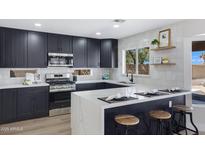
[[[164,124],[168,124],[166,128],[166,132],[169,131],[169,134],[172,134],[171,130],[171,117],[172,115],[163,110],[155,110],[155,111],[150,111],[149,116],[157,120],[157,129],[156,129],[156,134],[163,135],[163,129],[164,129]]]

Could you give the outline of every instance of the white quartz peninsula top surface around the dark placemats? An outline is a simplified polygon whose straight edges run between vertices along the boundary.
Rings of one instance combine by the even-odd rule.
[[[106,82],[105,80],[101,80],[101,82],[102,81]],[[107,82],[115,83],[114,81],[107,81]],[[87,83],[91,83],[91,82],[87,82]],[[169,94],[169,95],[162,95],[162,96],[155,96],[155,97],[144,97],[141,95],[134,94],[136,92],[145,92],[150,89],[153,89],[153,88],[140,85],[140,84],[134,84],[134,85],[130,85],[130,87],[123,87],[123,88],[73,92],[72,95],[76,95],[80,97],[81,99],[85,99],[86,102],[90,102],[95,105],[100,105],[102,108],[106,109],[106,108],[113,108],[113,107],[119,107],[119,106],[125,106],[125,105],[131,105],[131,104],[136,104],[136,103],[143,103],[143,102],[148,102],[148,101],[153,101],[153,100],[166,99],[170,97],[177,97],[177,96],[191,94],[191,91]],[[108,97],[108,96],[117,95],[117,94],[120,94],[121,96],[125,96],[127,93],[129,93],[129,95],[132,95],[132,97],[137,97],[138,99],[131,100],[131,101],[122,101],[122,102],[117,102],[117,103],[112,103],[112,104],[109,104],[107,102],[104,102],[98,99],[98,98]]]

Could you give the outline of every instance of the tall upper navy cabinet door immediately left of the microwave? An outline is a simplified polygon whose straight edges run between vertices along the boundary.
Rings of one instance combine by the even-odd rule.
[[[28,32],[28,67],[47,67],[47,34]]]

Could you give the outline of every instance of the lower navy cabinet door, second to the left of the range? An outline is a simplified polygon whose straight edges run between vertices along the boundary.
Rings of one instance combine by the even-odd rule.
[[[33,118],[32,90],[21,88],[17,91],[17,119],[25,120]]]

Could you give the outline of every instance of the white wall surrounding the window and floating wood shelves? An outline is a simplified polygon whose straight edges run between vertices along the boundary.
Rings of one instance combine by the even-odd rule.
[[[171,41],[176,49],[165,51],[150,51],[150,56],[168,56],[171,62],[176,62],[176,66],[150,66],[150,76],[135,76],[134,81],[140,84],[148,84],[156,87],[186,87],[186,69],[191,69],[189,50],[184,47],[187,38],[195,37],[197,34],[205,33],[205,20],[184,20],[182,22],[161,27],[155,30],[136,34],[119,40],[119,69],[113,69],[113,78],[117,80],[128,80],[122,75],[122,50],[145,47],[153,38],[158,38],[159,31],[171,28]],[[190,44],[189,44],[190,45]],[[191,54],[190,54],[191,55]],[[187,65],[190,65],[187,66]],[[188,70],[190,72],[190,70]],[[188,83],[191,85],[191,82]]]

